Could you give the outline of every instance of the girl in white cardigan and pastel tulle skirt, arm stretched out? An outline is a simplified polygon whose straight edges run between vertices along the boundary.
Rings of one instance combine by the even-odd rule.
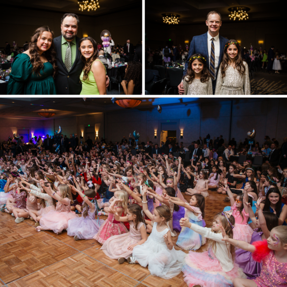
[[[212,227],[206,228],[190,223],[187,218],[180,220],[181,227],[190,228],[206,238],[206,250],[189,251],[185,257],[182,272],[188,286],[233,287],[236,277],[246,278],[235,260],[235,247],[222,241],[223,227],[228,238],[233,238],[235,219],[229,212],[220,212],[213,219]]]

